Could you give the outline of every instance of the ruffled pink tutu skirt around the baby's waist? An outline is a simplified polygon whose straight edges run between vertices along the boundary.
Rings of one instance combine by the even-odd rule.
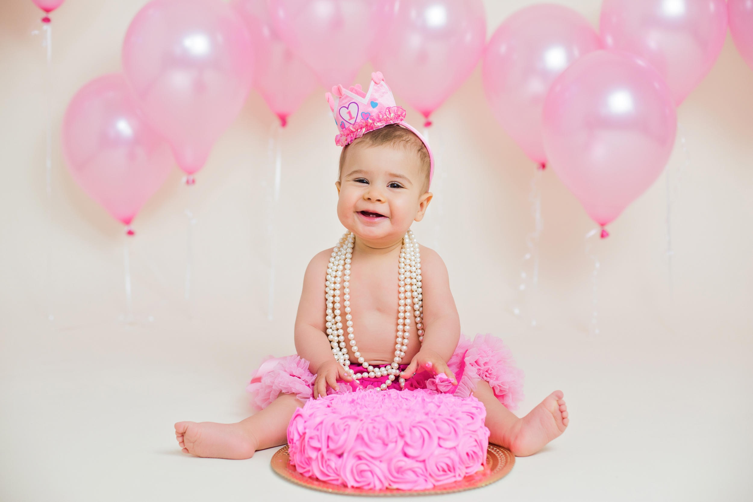
[[[405,391],[428,388],[432,391],[468,397],[476,390],[479,380],[487,382],[500,403],[508,409],[515,409],[523,399],[523,372],[514,365],[510,349],[501,339],[492,335],[476,335],[472,341],[460,336],[458,346],[447,361],[447,367],[455,373],[458,385],[447,380],[435,379],[430,373],[421,371],[405,382]],[[352,370],[363,371],[361,365],[352,365]],[[407,364],[400,366],[400,370]],[[309,361],[289,355],[288,357],[269,358],[253,373],[246,391],[252,394],[252,404],[264,409],[276,400],[282,392],[296,394],[302,401],[312,396],[312,386],[316,376],[309,372]],[[347,394],[366,390],[386,383],[387,377],[363,378],[353,382],[340,382],[340,390],[327,388],[327,394]],[[400,389],[400,385],[390,388]]]

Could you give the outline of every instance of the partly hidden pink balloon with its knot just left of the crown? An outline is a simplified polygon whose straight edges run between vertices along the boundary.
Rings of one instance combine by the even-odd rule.
[[[316,86],[316,75],[279,38],[266,0],[232,0],[255,51],[254,87],[285,126]]]

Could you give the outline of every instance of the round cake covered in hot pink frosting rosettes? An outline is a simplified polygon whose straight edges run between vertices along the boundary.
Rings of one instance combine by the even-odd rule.
[[[427,389],[332,394],[293,414],[290,462],[304,476],[337,485],[424,490],[484,467],[485,418],[473,396]]]

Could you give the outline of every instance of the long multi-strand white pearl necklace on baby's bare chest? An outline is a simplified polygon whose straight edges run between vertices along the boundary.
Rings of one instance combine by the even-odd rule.
[[[419,342],[423,341],[423,295],[421,288],[421,254],[419,243],[413,236],[413,231],[403,237],[403,245],[400,250],[400,263],[398,264],[398,334],[395,339],[395,358],[392,364],[386,367],[372,367],[361,356],[353,334],[353,321],[350,309],[350,263],[353,257],[353,244],[355,236],[352,232],[346,232],[340,237],[340,241],[332,251],[332,257],[327,265],[327,281],[325,281],[327,314],[325,317],[327,327],[327,339],[332,346],[332,354],[345,368],[345,373],[352,376],[356,381],[361,378],[381,378],[387,375],[388,380],[380,386],[386,390],[395,378],[400,374],[398,366],[403,362],[408,342],[410,341],[411,314],[416,322],[416,333]],[[342,294],[342,296],[341,296]],[[342,303],[341,301],[342,300]],[[342,310],[341,310],[342,309]],[[343,330],[343,318],[345,313],[345,329]],[[347,334],[346,334],[347,333]],[[364,367],[367,372],[355,373],[350,369],[350,354],[346,347],[345,339],[348,339],[352,357]],[[400,386],[405,385],[404,379],[398,379]]]

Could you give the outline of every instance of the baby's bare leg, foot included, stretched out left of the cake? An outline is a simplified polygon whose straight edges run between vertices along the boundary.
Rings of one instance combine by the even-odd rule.
[[[183,452],[197,457],[252,458],[256,450],[288,442],[288,423],[303,406],[294,394],[280,394],[270,406],[237,424],[179,421],[175,437]]]

